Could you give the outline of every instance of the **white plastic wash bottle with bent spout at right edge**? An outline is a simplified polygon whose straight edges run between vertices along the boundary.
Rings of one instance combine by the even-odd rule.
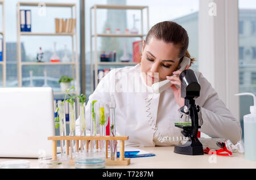
[[[245,158],[256,161],[256,97],[253,93],[239,93],[236,96],[253,96],[253,106],[250,106],[251,114],[243,116],[243,132],[245,138]]]

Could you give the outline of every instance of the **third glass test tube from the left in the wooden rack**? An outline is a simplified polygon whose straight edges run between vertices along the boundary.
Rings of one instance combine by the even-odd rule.
[[[86,122],[85,122],[85,102],[79,103],[79,110],[80,110],[80,136],[86,136]],[[85,140],[81,140],[81,151],[85,149]]]

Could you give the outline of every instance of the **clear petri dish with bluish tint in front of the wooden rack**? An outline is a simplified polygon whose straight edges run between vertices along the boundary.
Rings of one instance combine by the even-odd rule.
[[[105,151],[88,149],[75,154],[75,168],[77,169],[102,169],[105,168]]]

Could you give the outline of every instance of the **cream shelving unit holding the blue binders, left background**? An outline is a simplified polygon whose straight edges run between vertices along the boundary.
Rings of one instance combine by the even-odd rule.
[[[79,95],[80,80],[79,80],[79,61],[78,61],[78,50],[77,50],[77,28],[75,27],[75,32],[72,33],[44,33],[44,32],[21,32],[20,31],[20,6],[38,6],[40,2],[18,2],[16,6],[17,15],[17,66],[18,66],[18,86],[22,87],[22,66],[35,65],[71,65],[73,69],[73,87],[75,87],[76,81],[76,91],[71,92],[73,94]],[[76,4],[75,3],[45,3],[46,7],[70,7],[71,8],[71,18],[73,19],[73,8],[75,9],[75,19],[76,15]],[[21,42],[20,36],[70,36],[72,38],[72,61],[71,62],[22,62],[21,58]],[[55,95],[63,95],[65,92],[53,92]]]

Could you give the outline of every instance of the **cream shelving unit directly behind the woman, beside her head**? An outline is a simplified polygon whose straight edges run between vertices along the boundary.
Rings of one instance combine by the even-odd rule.
[[[97,53],[97,37],[143,37],[146,35],[140,34],[106,34],[106,33],[97,33],[97,9],[115,9],[115,10],[141,10],[141,32],[143,33],[143,10],[146,9],[147,12],[147,31],[149,29],[149,19],[148,19],[148,6],[127,6],[127,5],[94,5],[90,8],[90,73],[91,73],[91,92],[94,91],[93,83],[95,88],[98,85],[98,66],[107,65],[107,66],[126,66],[126,65],[136,65],[134,62],[98,62],[100,57]],[[94,10],[94,33],[92,32],[92,11]],[[93,47],[92,41],[94,38],[94,62],[93,62]],[[93,70],[94,70],[94,82],[93,82]]]

